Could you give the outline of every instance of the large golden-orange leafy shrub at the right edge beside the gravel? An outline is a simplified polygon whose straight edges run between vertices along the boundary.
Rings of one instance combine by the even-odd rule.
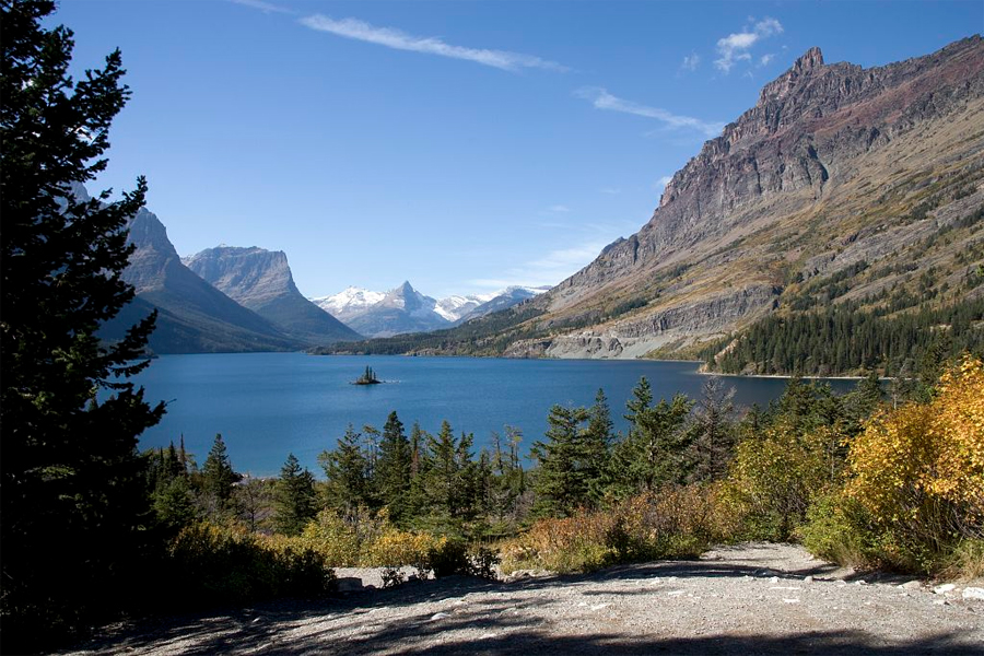
[[[984,538],[984,365],[964,358],[927,403],[869,420],[851,446],[845,495],[871,517],[880,560],[935,572]],[[973,542],[971,542],[973,543]]]

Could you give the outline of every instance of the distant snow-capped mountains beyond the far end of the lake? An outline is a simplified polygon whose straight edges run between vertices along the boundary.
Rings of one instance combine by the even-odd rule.
[[[409,282],[388,292],[350,286],[338,294],[312,298],[353,330],[367,337],[427,332],[511,307],[549,288],[511,286],[489,294],[455,294],[435,300]]]

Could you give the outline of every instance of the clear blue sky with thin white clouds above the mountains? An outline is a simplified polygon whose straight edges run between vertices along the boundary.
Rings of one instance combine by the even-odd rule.
[[[62,0],[132,97],[90,191],[150,184],[177,251],[288,255],[307,296],[555,284],[819,46],[883,66],[984,1]]]

